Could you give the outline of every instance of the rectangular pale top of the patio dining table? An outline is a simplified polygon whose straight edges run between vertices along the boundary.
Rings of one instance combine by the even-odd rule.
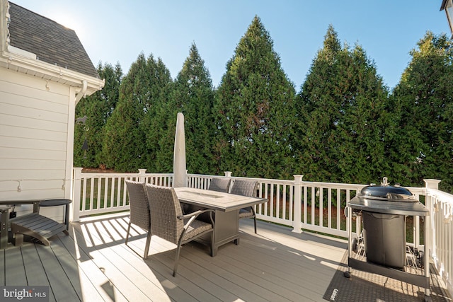
[[[176,187],[175,192],[180,202],[219,211],[234,211],[268,201],[265,198],[246,197],[224,192],[195,189],[193,187]]]

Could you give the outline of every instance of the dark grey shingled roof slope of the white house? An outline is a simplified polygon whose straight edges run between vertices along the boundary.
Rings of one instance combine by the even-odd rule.
[[[11,46],[36,54],[42,62],[99,77],[74,30],[17,4],[9,4]]]

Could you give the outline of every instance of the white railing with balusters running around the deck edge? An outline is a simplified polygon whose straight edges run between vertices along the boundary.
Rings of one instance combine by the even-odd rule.
[[[74,213],[73,221],[81,216],[105,214],[113,211],[128,211],[129,202],[125,190],[125,180],[138,180],[154,185],[173,185],[172,173],[81,173],[81,168],[74,168]],[[188,187],[207,189],[212,178],[232,177],[188,174]],[[326,233],[347,238],[348,230],[344,215],[345,205],[355,197],[365,185],[341,184],[333,182],[306,182],[302,175],[294,175],[294,180],[257,180],[259,197],[268,202],[256,207],[257,218],[263,221],[279,223],[292,227],[294,232],[302,229]],[[438,180],[425,180],[426,187],[408,187],[420,201],[430,209],[427,217],[430,232],[428,244],[430,256],[438,272],[445,281],[450,293],[453,293],[453,195],[437,190]],[[415,247],[424,245],[423,221],[418,216],[408,223],[412,227]],[[359,229],[356,224],[352,231]],[[355,234],[357,236],[357,234]]]

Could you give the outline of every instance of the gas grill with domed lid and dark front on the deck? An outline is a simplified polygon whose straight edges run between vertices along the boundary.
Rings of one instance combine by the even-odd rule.
[[[381,274],[425,288],[425,301],[430,298],[430,266],[427,245],[423,251],[406,245],[406,217],[428,216],[429,210],[405,187],[382,185],[364,187],[345,209],[348,221],[348,271]],[[359,223],[352,238],[352,217]],[[360,223],[362,221],[362,223]],[[424,239],[428,240],[424,223]],[[426,256],[425,256],[426,255]]]

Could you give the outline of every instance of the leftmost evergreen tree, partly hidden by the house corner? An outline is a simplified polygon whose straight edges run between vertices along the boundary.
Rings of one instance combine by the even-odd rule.
[[[102,141],[105,123],[112,115],[118,101],[122,69],[119,63],[98,64],[98,74],[105,80],[101,91],[82,98],[76,105],[76,117],[86,115],[86,124],[76,124],[74,134],[74,165],[84,168],[103,167]],[[87,150],[82,146],[86,143]]]

